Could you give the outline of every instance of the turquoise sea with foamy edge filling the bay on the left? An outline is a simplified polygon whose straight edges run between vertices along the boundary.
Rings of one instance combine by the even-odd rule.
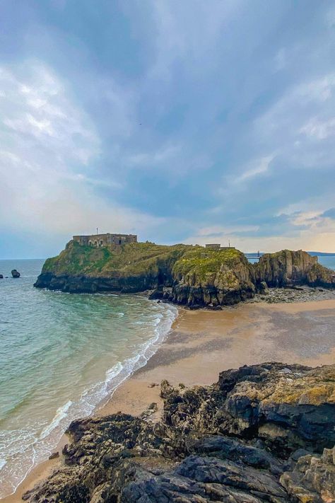
[[[42,264],[0,260],[0,497],[146,363],[177,314],[141,296],[35,289]]]

